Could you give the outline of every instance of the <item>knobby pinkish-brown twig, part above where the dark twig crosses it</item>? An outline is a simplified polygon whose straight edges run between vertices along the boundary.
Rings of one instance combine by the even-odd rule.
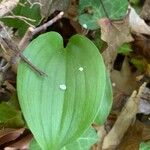
[[[41,31],[46,30],[47,27],[51,26],[57,20],[61,19],[63,15],[64,15],[64,12],[60,12],[53,19],[51,19],[50,21],[46,22],[45,24],[43,24],[37,28],[29,27],[27,32],[25,33],[24,37],[22,38],[22,40],[19,43],[19,48],[21,50],[23,50],[28,45],[29,41],[33,38],[34,35],[38,34]]]

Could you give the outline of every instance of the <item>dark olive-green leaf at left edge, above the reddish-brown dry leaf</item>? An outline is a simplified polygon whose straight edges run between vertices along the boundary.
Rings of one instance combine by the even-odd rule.
[[[24,126],[21,112],[5,102],[0,104],[0,128],[20,128]]]

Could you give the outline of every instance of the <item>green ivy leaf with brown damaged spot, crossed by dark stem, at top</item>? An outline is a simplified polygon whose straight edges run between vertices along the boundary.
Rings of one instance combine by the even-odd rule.
[[[88,29],[98,29],[97,20],[108,17],[112,20],[122,19],[128,9],[128,0],[80,0],[79,2],[79,22]],[[107,16],[107,14],[108,16]]]

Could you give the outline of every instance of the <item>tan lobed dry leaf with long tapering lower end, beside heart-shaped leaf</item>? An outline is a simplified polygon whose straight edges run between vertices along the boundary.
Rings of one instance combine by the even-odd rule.
[[[110,21],[107,18],[98,21],[101,27],[101,38],[108,44],[108,48],[103,52],[103,59],[107,70],[112,70],[115,58],[117,56],[117,49],[123,43],[133,41],[130,34],[128,16],[122,21]]]

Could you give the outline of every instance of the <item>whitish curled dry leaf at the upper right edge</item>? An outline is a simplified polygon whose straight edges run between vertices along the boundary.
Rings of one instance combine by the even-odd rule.
[[[150,35],[150,26],[130,6],[129,24],[132,32]]]

